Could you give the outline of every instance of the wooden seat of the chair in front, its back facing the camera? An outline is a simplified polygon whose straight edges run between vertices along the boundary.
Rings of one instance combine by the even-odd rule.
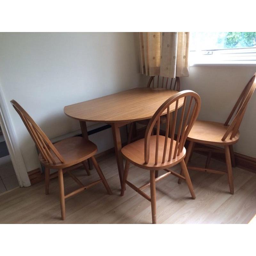
[[[128,159],[134,165],[137,165],[143,169],[148,170],[162,170],[168,167],[171,167],[179,163],[186,155],[186,149],[183,148],[179,156],[176,156],[175,159],[171,158],[171,161],[168,161],[169,149],[171,144],[171,139],[167,140],[167,150],[165,162],[162,163],[163,152],[164,152],[164,136],[159,135],[159,146],[158,146],[158,164],[155,164],[155,154],[156,154],[156,135],[150,137],[150,156],[148,164],[145,164],[144,161],[144,143],[145,140],[134,141],[122,148],[123,156]],[[176,141],[173,141],[172,151],[174,151]],[[173,155],[173,153],[172,153]]]

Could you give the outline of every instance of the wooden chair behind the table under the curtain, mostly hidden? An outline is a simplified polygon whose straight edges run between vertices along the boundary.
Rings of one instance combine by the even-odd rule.
[[[156,80],[156,82],[155,82]],[[164,89],[170,89],[170,90],[176,90],[180,91],[180,77],[175,78],[169,78],[164,76],[150,76],[147,84],[148,88],[164,88]],[[160,117],[160,124],[166,123],[166,115]],[[129,133],[127,132],[128,140],[127,143],[129,144],[132,140],[132,132],[135,130],[135,134],[137,133],[137,127],[136,124],[142,124],[142,125],[148,125],[150,119],[146,120],[140,120],[137,122],[131,123]],[[170,122],[172,120],[172,116],[170,118]],[[171,125],[170,125],[171,127]],[[127,128],[127,126],[126,126]],[[154,132],[154,131],[152,131]],[[171,133],[171,131],[169,132]]]

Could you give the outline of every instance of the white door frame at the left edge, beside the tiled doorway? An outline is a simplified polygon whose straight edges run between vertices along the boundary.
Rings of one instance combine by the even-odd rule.
[[[14,132],[10,114],[4,99],[4,93],[0,84],[0,125],[4,135],[4,140],[8,148],[12,165],[17,176],[20,187],[31,186],[28,172],[20,152],[16,134]]]

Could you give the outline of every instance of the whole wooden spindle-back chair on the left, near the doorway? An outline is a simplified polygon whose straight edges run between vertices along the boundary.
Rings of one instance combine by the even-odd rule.
[[[65,220],[65,199],[74,196],[77,193],[92,187],[100,182],[103,182],[105,188],[109,195],[111,195],[111,190],[108,183],[100,170],[94,155],[97,153],[97,146],[90,140],[86,140],[82,137],[73,137],[65,140],[61,140],[54,145],[45,135],[45,133],[40,129],[40,127],[34,122],[34,120],[28,115],[28,113],[15,101],[11,100],[11,103],[15,110],[20,115],[23,123],[28,129],[29,134],[34,140],[36,147],[38,148],[40,154],[38,155],[40,162],[45,167],[45,194],[49,194],[49,181],[50,181],[50,169],[58,170],[59,177],[59,189],[60,189],[60,209],[61,218]],[[78,163],[82,163],[88,175],[90,172],[85,164],[85,160],[88,158],[92,159],[92,163],[95,166],[96,171],[100,176],[100,180],[96,180],[89,185],[84,185],[80,180],[76,178],[68,169],[64,169],[73,166]],[[64,193],[64,181],[63,173],[68,172],[68,174],[76,181],[76,183],[81,187],[75,191],[65,195]],[[55,175],[56,176],[56,175]]]

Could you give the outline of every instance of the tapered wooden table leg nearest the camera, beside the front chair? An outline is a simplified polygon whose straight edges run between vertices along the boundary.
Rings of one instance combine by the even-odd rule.
[[[121,153],[122,142],[121,142],[120,129],[119,129],[120,126],[118,125],[118,123],[112,123],[111,127],[112,127],[112,133],[113,133],[113,140],[115,144],[116,162],[117,162],[117,168],[119,173],[119,179],[122,187],[122,179],[124,176],[124,162],[123,162],[123,156]]]

